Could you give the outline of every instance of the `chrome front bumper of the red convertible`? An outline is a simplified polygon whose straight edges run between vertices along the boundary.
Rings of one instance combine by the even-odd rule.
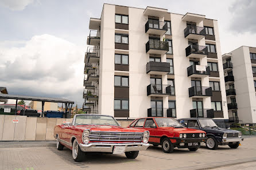
[[[149,147],[149,144],[144,143],[90,143],[79,144],[80,149],[83,152],[113,152],[115,146],[125,146],[125,152],[130,151],[144,151]]]

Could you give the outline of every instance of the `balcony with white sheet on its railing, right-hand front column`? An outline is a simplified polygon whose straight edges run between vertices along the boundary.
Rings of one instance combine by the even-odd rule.
[[[210,75],[210,67],[203,65],[191,65],[187,68],[188,77],[207,77]]]

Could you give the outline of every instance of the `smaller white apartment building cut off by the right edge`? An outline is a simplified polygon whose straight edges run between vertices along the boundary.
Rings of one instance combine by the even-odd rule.
[[[256,48],[241,46],[222,59],[230,122],[256,123]]]

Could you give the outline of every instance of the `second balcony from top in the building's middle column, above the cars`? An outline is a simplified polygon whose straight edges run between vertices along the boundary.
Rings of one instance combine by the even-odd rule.
[[[146,43],[146,53],[149,54],[166,54],[169,51],[169,44],[167,41],[160,41],[156,39],[149,39]]]

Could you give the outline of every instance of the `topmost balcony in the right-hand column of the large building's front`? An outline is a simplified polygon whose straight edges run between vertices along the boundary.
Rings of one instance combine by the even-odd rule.
[[[188,25],[184,29],[184,36],[188,39],[202,39],[206,35],[205,27]]]

